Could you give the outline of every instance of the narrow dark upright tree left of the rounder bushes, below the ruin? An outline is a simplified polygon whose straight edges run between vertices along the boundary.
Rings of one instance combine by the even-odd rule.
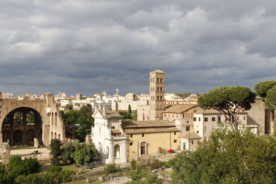
[[[61,156],[61,141],[59,139],[52,139],[50,142],[50,151],[52,154],[51,164],[60,165],[59,156]]]

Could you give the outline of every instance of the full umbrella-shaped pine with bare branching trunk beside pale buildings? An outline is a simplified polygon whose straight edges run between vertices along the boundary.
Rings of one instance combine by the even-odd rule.
[[[220,87],[199,96],[198,103],[204,110],[215,109],[224,114],[233,130],[237,130],[237,114],[250,110],[255,102],[255,93],[243,86]]]

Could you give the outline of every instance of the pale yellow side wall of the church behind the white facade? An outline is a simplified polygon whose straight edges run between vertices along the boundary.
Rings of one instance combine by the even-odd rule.
[[[159,147],[164,150],[179,150],[181,147],[181,132],[155,132],[144,133],[144,137],[141,133],[128,134],[128,161],[140,156],[139,145],[142,142],[147,143],[146,154],[155,154],[159,152]],[[176,143],[175,143],[176,140]],[[130,145],[132,143],[132,145]]]

